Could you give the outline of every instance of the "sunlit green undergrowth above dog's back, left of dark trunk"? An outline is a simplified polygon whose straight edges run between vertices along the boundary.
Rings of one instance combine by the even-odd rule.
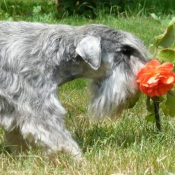
[[[0,1],[0,19],[49,22],[55,19],[55,9],[55,4],[47,0],[3,0]]]

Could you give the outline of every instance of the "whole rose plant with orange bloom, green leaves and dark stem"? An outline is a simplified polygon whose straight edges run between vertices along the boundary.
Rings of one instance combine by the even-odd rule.
[[[155,14],[151,14],[151,16],[161,23],[160,18],[158,18]],[[172,62],[173,64],[175,63],[175,48],[170,48],[175,39],[175,29],[174,29],[174,24],[175,24],[175,18],[172,18],[172,20],[169,22],[168,27],[166,28],[165,32],[162,35],[159,35],[155,38],[155,42],[152,45],[154,48],[154,55],[152,59],[159,59],[162,62]],[[147,97],[147,110],[151,112],[151,114],[146,116],[146,120],[148,121],[156,121],[156,126],[158,130],[161,130],[161,121],[159,117],[159,109],[162,110],[162,112],[167,116],[175,117],[175,88],[173,88],[173,84],[175,81],[175,74],[171,71],[173,69],[173,65],[171,63],[166,63],[163,64],[162,67],[159,65],[157,67],[155,66],[156,64],[160,64],[156,61],[152,61],[154,65],[151,65],[151,62],[148,63],[150,67],[147,68],[148,72],[145,72],[146,69],[141,70],[143,72],[143,75],[141,74],[142,72],[139,72],[139,75],[141,75],[143,79],[143,87],[142,90],[144,93],[146,93],[149,97]],[[147,64],[147,65],[148,65]],[[147,66],[146,65],[146,66]],[[161,69],[160,69],[161,68]],[[160,70],[158,70],[160,69]],[[152,71],[152,73],[151,73]],[[161,72],[160,72],[161,71]],[[149,79],[146,82],[146,75],[150,76],[148,77]],[[169,80],[168,78],[171,77]],[[139,78],[141,80],[141,77]],[[151,80],[152,79],[152,80]],[[165,81],[166,79],[166,84],[164,85],[162,80]],[[139,82],[140,82],[139,80]],[[151,82],[150,82],[151,80]],[[145,84],[148,83],[148,84]],[[172,83],[172,84],[170,84]],[[166,90],[166,86],[168,89]],[[171,87],[170,87],[171,86]],[[140,84],[139,84],[139,87]],[[145,89],[145,90],[144,90]],[[172,90],[170,90],[172,89]],[[155,92],[154,92],[155,91]],[[157,91],[157,92],[156,92]],[[169,91],[167,94],[165,94],[167,91]],[[147,93],[148,92],[148,93]],[[151,94],[152,93],[152,94]],[[150,94],[150,95],[149,95]],[[165,94],[165,95],[164,95]],[[164,96],[162,96],[164,95]],[[159,98],[161,97],[161,98]],[[151,100],[152,99],[152,102]]]

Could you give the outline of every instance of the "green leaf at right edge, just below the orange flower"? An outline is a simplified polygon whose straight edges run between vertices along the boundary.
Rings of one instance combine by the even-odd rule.
[[[172,95],[171,93],[167,93],[166,107],[167,107],[167,109],[169,111],[169,115],[171,117],[175,116],[174,104],[175,104],[175,96]]]

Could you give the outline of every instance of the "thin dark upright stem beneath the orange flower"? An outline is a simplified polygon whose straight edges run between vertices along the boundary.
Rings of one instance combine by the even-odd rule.
[[[159,97],[153,97],[153,102],[154,102],[156,127],[158,131],[161,131],[160,116],[159,116]]]

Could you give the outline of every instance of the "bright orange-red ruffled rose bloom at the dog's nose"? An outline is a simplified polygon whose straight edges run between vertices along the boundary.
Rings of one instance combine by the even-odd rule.
[[[172,63],[161,65],[159,61],[151,60],[138,73],[140,91],[149,97],[165,95],[175,84],[175,73],[172,71]]]

